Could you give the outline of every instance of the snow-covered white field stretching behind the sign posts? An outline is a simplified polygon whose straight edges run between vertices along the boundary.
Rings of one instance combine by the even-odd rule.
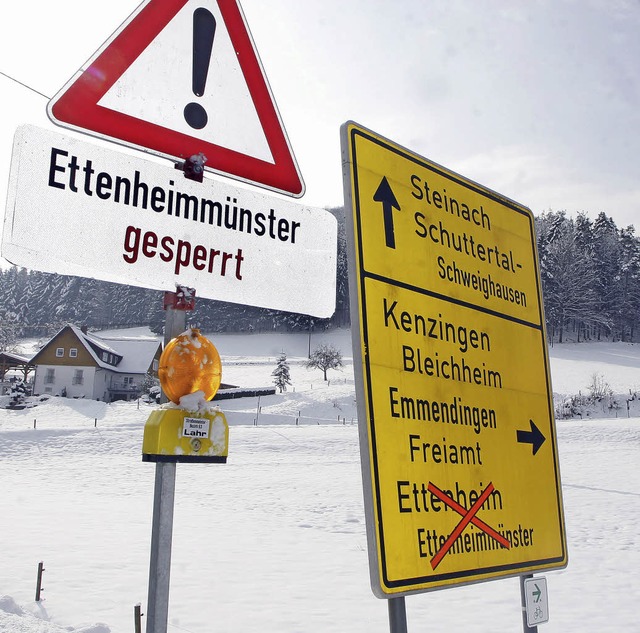
[[[229,462],[178,465],[169,631],[388,631],[369,588],[349,333],[313,335],[312,348],[327,340],[345,355],[329,385],[304,367],[306,335],[211,338],[224,382],[271,385],[284,351],[293,386],[222,401]],[[638,345],[556,345],[551,359],[559,399],[588,393],[594,374],[623,403],[640,390]],[[151,410],[63,398],[0,409],[0,631],[134,630],[134,606],[146,610],[155,466],[140,449]],[[640,404],[588,413],[557,422],[569,565],[544,574],[544,633],[640,631]],[[406,605],[416,633],[522,630],[517,578]]]

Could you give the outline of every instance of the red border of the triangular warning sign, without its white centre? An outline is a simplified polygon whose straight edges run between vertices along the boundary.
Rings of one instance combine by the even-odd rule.
[[[215,0],[238,54],[249,93],[274,163],[158,126],[98,105],[189,0],[148,0],[125,21],[47,106],[49,118],[62,127],[115,140],[154,154],[184,159],[202,152],[205,169],[264,185],[299,198],[305,186],[286,136],[266,74],[238,0]]]

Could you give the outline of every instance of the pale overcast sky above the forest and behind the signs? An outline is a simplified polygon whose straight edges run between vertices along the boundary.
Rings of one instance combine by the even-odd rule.
[[[534,214],[640,221],[640,0],[241,3],[304,203],[343,204],[339,129],[354,120]],[[3,3],[0,71],[51,97],[136,7]],[[47,99],[0,87],[4,201],[16,127],[55,126]]]

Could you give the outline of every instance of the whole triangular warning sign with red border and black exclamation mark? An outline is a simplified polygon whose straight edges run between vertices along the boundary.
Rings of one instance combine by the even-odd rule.
[[[295,197],[298,166],[238,0],[147,0],[49,102],[63,127]]]

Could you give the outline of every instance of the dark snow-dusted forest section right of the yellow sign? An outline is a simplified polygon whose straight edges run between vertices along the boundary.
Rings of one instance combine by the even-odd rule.
[[[633,341],[640,315],[640,238],[600,213],[536,218],[550,341]]]

